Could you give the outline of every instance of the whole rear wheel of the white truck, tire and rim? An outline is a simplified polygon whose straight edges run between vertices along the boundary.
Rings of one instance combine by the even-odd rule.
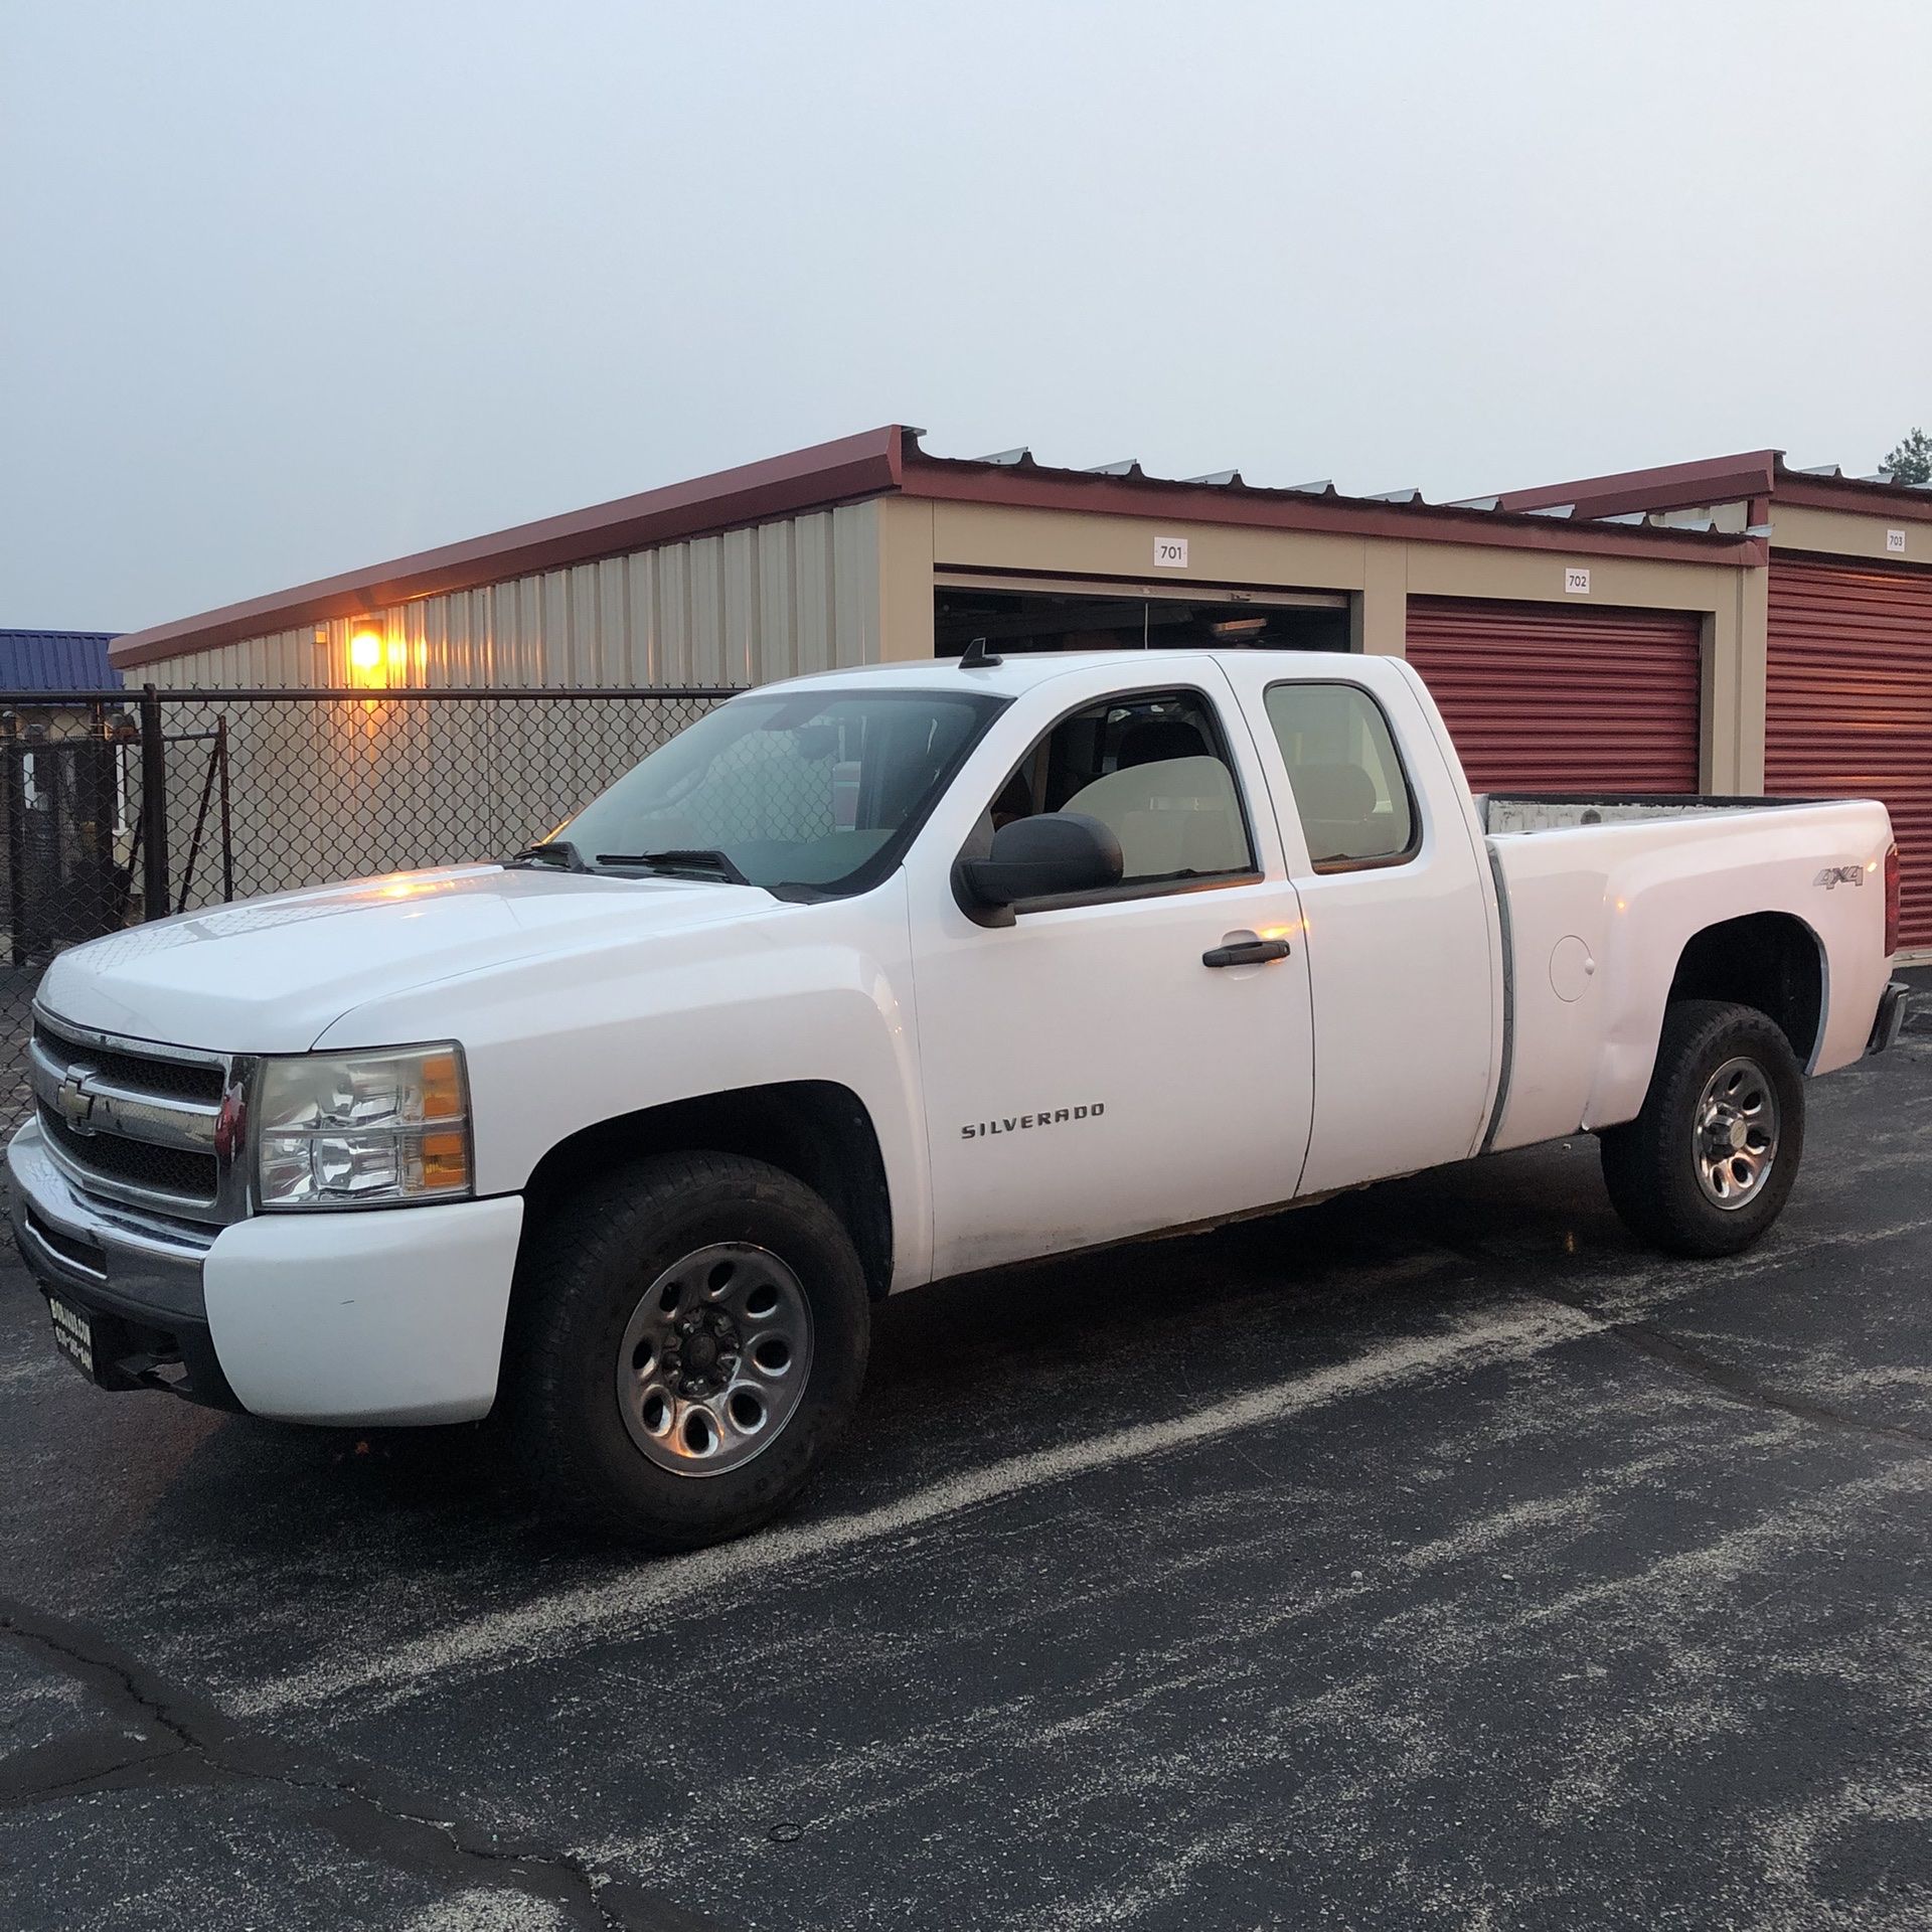
[[[1754,1007],[1665,1009],[1644,1111],[1600,1136],[1625,1225],[1671,1254],[1748,1248],[1783,1211],[1804,1157],[1804,1080]]]

